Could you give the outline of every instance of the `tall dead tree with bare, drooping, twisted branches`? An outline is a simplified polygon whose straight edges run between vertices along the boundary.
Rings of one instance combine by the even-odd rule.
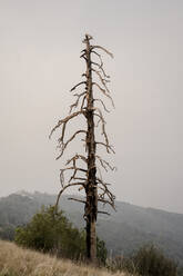
[[[102,93],[102,97],[109,98],[113,105],[113,100],[110,96],[110,90],[106,83],[110,81],[110,76],[108,76],[103,69],[103,61],[99,51],[103,51],[110,57],[113,55],[101,46],[92,46],[90,40],[91,36],[85,34],[83,43],[85,48],[81,51],[81,58],[85,60],[87,70],[82,75],[84,80],[75,85],[71,91],[75,91],[79,88],[83,90],[79,93],[74,93],[77,100],[70,107],[70,115],[64,119],[59,120],[57,126],[51,130],[50,136],[58,129],[61,128],[61,137],[59,138],[59,149],[60,155],[57,159],[61,158],[68,145],[79,135],[83,136],[82,141],[85,146],[85,156],[75,154],[65,164],[65,167],[61,169],[60,180],[61,190],[58,195],[57,206],[62,193],[69,187],[79,186],[79,190],[84,189],[85,199],[70,198],[84,204],[84,219],[87,221],[87,256],[91,262],[96,260],[96,233],[95,233],[95,221],[99,213],[106,214],[98,209],[98,203],[109,204],[114,208],[114,195],[109,189],[109,184],[106,184],[101,174],[98,175],[98,164],[102,166],[105,170],[114,168],[105,160],[103,160],[98,154],[96,149],[99,146],[105,148],[106,152],[114,152],[112,146],[109,142],[108,135],[105,131],[105,120],[102,110],[96,106],[96,102],[101,103],[101,107],[109,111],[101,99],[101,96],[96,98],[94,95]],[[94,59],[95,56],[95,59]],[[93,80],[95,76],[96,81]],[[72,110],[75,109],[73,112]],[[65,140],[65,129],[68,122],[78,116],[83,116],[87,121],[85,129],[77,130],[69,139]],[[96,124],[98,120],[98,124]],[[95,128],[101,127],[103,140],[95,140]],[[79,166],[79,161],[84,164],[84,166]],[[64,175],[67,171],[71,171],[70,179],[65,183]],[[83,176],[81,176],[83,174]]]

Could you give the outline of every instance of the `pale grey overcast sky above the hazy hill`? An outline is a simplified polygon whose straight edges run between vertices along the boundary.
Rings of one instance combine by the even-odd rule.
[[[183,213],[182,14],[182,0],[0,0],[0,196],[58,193],[49,132],[81,81],[88,32],[114,53],[104,61],[118,171],[105,178],[120,200]]]

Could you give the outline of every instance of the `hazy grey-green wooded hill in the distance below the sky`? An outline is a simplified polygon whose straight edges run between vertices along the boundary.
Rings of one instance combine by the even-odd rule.
[[[62,196],[60,207],[78,227],[84,227],[83,205]],[[12,238],[18,225],[27,224],[41,205],[55,203],[55,195],[21,191],[0,198],[0,237]],[[106,207],[111,216],[99,215],[98,235],[110,255],[131,254],[144,244],[157,245],[183,266],[183,215],[142,208],[116,201],[116,213]],[[101,206],[102,208],[102,206]]]

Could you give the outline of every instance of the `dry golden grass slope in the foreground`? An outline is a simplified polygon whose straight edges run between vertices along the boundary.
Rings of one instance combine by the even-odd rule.
[[[22,249],[0,240],[0,276],[128,276]]]

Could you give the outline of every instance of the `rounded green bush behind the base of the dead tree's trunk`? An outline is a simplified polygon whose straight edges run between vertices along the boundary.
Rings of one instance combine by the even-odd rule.
[[[23,247],[33,248],[43,253],[53,253],[57,256],[84,259],[85,231],[79,230],[63,215],[54,213],[54,207],[42,207],[31,221],[16,229],[16,243]],[[98,238],[98,258],[105,263],[106,248],[103,240]]]

